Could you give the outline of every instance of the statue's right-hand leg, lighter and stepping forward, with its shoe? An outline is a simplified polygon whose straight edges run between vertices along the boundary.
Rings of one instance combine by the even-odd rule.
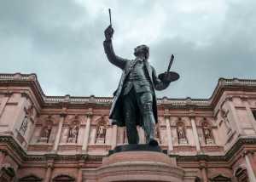
[[[143,116],[143,127],[146,134],[146,142],[150,143],[154,141],[154,145],[157,145],[156,140],[154,140],[154,113],[153,113],[153,95],[150,92],[142,93],[137,95],[139,102],[140,112]]]

